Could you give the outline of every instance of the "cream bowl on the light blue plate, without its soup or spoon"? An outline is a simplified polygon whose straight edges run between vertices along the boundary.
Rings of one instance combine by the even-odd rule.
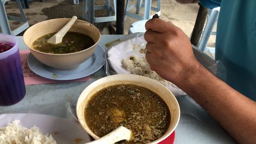
[[[70,18],[49,19],[37,23],[30,27],[23,35],[24,43],[29,47],[31,53],[43,64],[59,70],[70,70],[78,67],[86,61],[96,50],[100,39],[100,32],[94,25],[83,21],[76,20],[69,31],[79,32],[89,35],[93,38],[95,44],[86,50],[67,54],[50,54],[32,49],[33,42],[48,33],[58,32],[65,26]]]

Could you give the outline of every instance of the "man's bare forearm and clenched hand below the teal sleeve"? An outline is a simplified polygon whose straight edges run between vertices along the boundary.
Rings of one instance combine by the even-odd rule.
[[[256,102],[205,69],[181,29],[159,18],[145,27],[151,69],[196,100],[239,143],[255,143]]]

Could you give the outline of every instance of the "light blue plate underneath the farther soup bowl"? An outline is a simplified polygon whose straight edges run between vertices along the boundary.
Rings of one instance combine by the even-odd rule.
[[[96,50],[84,63],[72,70],[56,70],[48,67],[37,60],[31,53],[28,56],[29,68],[41,77],[53,80],[73,80],[89,76],[98,71],[104,64],[105,51],[97,45]]]

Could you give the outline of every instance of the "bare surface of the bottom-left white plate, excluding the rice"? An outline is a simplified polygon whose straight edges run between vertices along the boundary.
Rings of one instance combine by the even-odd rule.
[[[42,114],[2,114],[0,127],[7,126],[13,120],[20,120],[20,125],[26,128],[36,126],[42,134],[51,134],[57,143],[71,144],[75,139],[79,143],[90,142],[91,137],[76,121]]]

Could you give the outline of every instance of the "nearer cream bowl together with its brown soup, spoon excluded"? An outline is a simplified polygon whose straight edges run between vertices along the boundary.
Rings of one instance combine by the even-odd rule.
[[[158,81],[117,74],[98,79],[84,89],[76,114],[94,139],[123,126],[133,136],[118,143],[159,143],[174,132],[180,108],[173,93]]]

